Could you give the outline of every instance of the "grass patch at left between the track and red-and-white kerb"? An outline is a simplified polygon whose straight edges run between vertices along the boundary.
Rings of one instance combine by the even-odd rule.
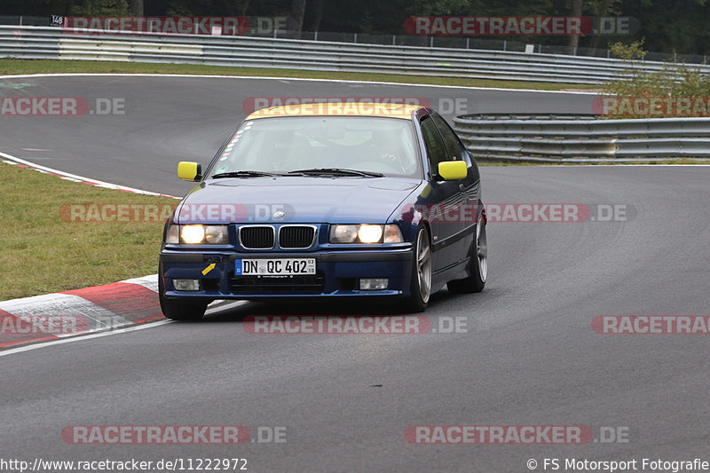
[[[0,162],[0,300],[157,272],[160,219],[146,218],[153,220],[146,223],[91,218],[72,222],[67,221],[70,214],[60,216],[63,205],[67,209],[67,204],[102,203],[156,204],[165,209],[167,205],[174,207],[177,200],[102,189]],[[134,209],[130,217],[135,215]]]

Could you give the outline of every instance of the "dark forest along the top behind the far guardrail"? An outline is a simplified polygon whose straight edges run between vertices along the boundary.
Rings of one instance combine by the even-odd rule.
[[[2,0],[0,15],[288,17],[292,31],[383,35],[405,35],[411,15],[629,16],[634,35],[508,39],[605,49],[644,38],[647,51],[710,54],[710,0]]]

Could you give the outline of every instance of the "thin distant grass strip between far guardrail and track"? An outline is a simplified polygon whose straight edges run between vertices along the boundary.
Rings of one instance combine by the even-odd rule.
[[[426,75],[365,74],[349,72],[304,71],[270,67],[225,67],[200,64],[152,64],[147,62],[118,62],[53,59],[0,59],[0,75],[26,74],[185,74],[185,75],[243,75],[267,77],[296,77],[308,79],[370,81],[387,83],[425,83],[441,86],[499,87],[505,89],[535,89],[540,91],[596,90],[597,85],[579,83],[538,83],[436,77]]]

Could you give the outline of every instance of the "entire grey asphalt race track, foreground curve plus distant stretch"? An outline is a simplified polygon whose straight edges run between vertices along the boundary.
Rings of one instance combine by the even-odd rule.
[[[469,112],[581,112],[592,96],[258,79],[57,77],[4,96],[124,98],[125,115],[0,117],[0,151],[161,193],[207,163],[249,97],[464,98]],[[30,151],[43,149],[48,151]],[[528,471],[545,458],[710,461],[707,338],[601,335],[599,315],[710,315],[707,167],[484,167],[486,203],[625,206],[625,218],[488,225],[483,293],[433,297],[425,335],[249,335],[255,314],[386,307],[240,304],[0,357],[2,456],[246,458],[249,471]],[[156,254],[157,261],[157,254]],[[704,355],[705,353],[705,355]],[[283,443],[69,445],[72,425],[285,427]],[[410,445],[414,425],[581,425],[588,445]],[[606,437],[608,438],[608,436]],[[550,466],[548,465],[548,469]],[[561,468],[561,470],[564,470]]]

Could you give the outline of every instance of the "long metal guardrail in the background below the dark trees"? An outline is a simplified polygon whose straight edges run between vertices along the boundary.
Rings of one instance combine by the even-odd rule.
[[[330,43],[255,36],[75,34],[61,28],[0,26],[0,58],[92,59],[299,68],[598,84],[623,76],[631,65],[618,59],[514,51]],[[659,70],[660,62],[638,69]],[[697,65],[704,72],[710,66]]]

